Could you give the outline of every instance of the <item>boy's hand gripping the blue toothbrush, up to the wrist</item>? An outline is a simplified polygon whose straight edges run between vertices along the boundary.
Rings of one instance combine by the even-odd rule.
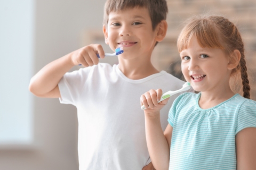
[[[82,64],[84,67],[97,65],[99,63],[97,54],[99,54],[100,58],[105,57],[105,53],[101,45],[91,44],[85,46],[71,53],[71,63],[73,65]]]

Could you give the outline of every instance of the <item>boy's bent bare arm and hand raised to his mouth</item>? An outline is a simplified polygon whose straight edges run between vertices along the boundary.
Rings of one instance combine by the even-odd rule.
[[[94,44],[75,50],[47,64],[31,78],[29,91],[38,97],[61,97],[58,83],[63,75],[75,65],[82,64],[85,67],[97,65],[99,58],[96,53],[99,53],[101,58],[105,57],[102,46]]]

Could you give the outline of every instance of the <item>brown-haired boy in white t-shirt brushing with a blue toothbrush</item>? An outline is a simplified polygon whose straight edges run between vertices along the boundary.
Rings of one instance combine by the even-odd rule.
[[[150,61],[166,34],[166,13],[165,0],[107,0],[103,33],[111,49],[123,47],[119,64],[99,63],[96,54],[104,58],[104,51],[93,44],[47,64],[31,79],[34,95],[77,107],[79,169],[154,168],[148,165],[140,96],[149,89],[177,90],[184,83]],[[85,68],[67,73],[78,64]],[[170,100],[163,109],[163,129]]]

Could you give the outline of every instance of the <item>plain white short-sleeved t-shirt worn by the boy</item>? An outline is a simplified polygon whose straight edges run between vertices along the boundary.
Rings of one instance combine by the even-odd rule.
[[[100,63],[66,73],[60,102],[77,107],[79,169],[141,170],[150,162],[140,96],[150,89],[178,90],[183,81],[161,71],[131,80],[118,65]],[[163,130],[173,100],[161,110]]]

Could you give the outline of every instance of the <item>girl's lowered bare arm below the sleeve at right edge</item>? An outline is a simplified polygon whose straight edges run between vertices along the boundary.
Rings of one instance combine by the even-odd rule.
[[[256,169],[256,128],[236,134],[237,169]]]

